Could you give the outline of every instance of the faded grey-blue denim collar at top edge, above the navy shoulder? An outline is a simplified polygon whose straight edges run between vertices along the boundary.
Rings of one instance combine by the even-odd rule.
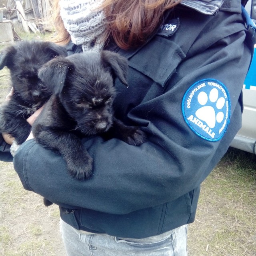
[[[212,15],[218,12],[225,0],[182,0],[180,4],[197,10],[203,14]]]

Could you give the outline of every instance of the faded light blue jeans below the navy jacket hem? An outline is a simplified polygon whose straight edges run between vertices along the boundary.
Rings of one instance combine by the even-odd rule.
[[[67,256],[187,256],[187,226],[143,239],[79,231],[60,220]]]

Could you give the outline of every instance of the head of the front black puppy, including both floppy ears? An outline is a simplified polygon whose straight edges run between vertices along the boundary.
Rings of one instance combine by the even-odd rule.
[[[127,85],[126,58],[114,52],[88,52],[51,60],[38,76],[60,99],[77,129],[92,135],[112,125],[114,78]]]

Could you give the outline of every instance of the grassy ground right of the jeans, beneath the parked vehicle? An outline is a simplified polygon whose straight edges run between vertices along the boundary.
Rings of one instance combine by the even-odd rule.
[[[191,255],[256,255],[256,158],[230,148],[202,184]]]

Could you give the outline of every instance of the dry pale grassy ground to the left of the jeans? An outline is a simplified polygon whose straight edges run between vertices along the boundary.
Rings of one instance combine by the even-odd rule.
[[[22,187],[12,163],[0,162],[0,255],[62,256],[56,205]]]

